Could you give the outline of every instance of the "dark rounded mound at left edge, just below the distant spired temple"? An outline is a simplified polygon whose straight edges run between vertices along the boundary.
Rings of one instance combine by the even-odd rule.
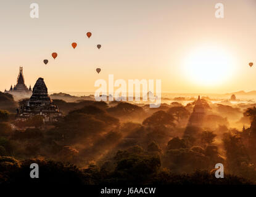
[[[18,107],[18,103],[14,101],[14,97],[11,94],[0,92],[0,110],[15,113]]]

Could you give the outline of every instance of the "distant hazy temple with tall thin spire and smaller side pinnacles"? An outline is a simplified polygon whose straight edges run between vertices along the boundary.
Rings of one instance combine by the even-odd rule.
[[[17,78],[17,84],[14,85],[14,87],[12,87],[12,85],[10,86],[9,90],[4,90],[4,93],[9,93],[12,94],[14,97],[30,97],[32,94],[32,90],[31,90],[31,86],[28,88],[25,85],[25,79],[23,76],[23,67],[20,66],[20,71],[19,71],[19,75]]]

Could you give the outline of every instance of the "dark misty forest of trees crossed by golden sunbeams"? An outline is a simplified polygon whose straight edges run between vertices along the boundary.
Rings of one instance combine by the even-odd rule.
[[[45,183],[256,182],[254,107],[202,99],[202,121],[196,101],[160,108],[91,100],[54,103],[64,117],[51,125],[41,116],[19,123],[13,110],[0,110],[1,183],[31,182],[24,178],[29,177],[31,163],[39,164],[36,181]],[[16,105],[10,97],[9,108]],[[234,128],[233,115],[239,118],[237,125],[246,124],[247,129]],[[224,179],[215,178],[217,163],[225,166]]]

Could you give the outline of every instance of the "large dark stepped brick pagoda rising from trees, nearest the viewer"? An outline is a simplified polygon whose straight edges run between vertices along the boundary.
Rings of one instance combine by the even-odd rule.
[[[27,119],[35,115],[43,116],[44,122],[54,122],[62,116],[62,113],[49,97],[43,78],[38,78],[36,81],[33,94],[27,103],[20,108],[19,118]]]

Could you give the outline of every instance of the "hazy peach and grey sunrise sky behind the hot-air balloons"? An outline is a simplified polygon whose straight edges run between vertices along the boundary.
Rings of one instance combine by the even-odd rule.
[[[30,18],[33,2],[39,18]],[[215,18],[218,2],[225,18]],[[1,0],[0,90],[15,84],[20,65],[28,86],[42,77],[51,91],[91,92],[108,74],[162,79],[162,92],[256,90],[255,22],[256,0]],[[199,82],[198,67],[188,61],[211,60],[211,51],[218,60],[225,55],[228,66],[217,66],[220,80]]]

